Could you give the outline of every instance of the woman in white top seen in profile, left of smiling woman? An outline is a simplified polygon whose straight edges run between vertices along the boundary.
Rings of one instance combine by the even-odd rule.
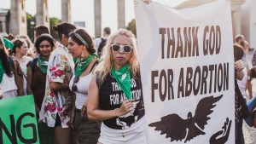
[[[24,94],[26,95],[26,64],[32,60],[32,57],[27,56],[27,44],[25,39],[19,38],[14,41],[14,48],[12,49],[13,56],[20,63],[21,72],[23,75],[24,82]]]

